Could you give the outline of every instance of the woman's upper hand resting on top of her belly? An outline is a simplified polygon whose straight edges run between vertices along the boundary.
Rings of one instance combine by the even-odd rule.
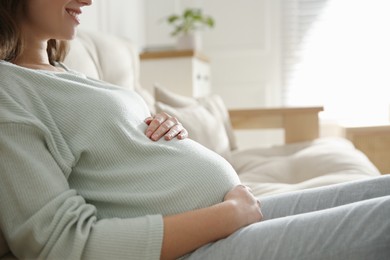
[[[183,125],[175,117],[164,112],[146,118],[145,123],[148,125],[145,134],[153,141],[163,136],[167,141],[174,137],[180,140],[188,137],[188,132]]]

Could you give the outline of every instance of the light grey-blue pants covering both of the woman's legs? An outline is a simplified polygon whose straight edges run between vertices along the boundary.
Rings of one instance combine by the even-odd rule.
[[[189,259],[390,259],[390,175],[260,199],[262,222]]]

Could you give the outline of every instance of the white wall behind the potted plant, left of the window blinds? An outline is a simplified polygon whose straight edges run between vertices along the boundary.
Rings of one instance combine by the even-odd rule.
[[[173,45],[161,19],[188,6],[202,7],[216,20],[203,33],[212,91],[229,107],[280,105],[280,1],[145,0],[145,45]]]

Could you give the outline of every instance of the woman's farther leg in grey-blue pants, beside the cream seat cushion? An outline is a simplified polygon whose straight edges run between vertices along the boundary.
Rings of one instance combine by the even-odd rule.
[[[387,195],[390,195],[390,175],[271,195],[260,201],[264,220],[268,220]]]

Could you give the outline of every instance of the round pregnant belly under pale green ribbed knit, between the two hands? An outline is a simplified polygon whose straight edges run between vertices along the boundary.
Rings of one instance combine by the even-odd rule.
[[[229,162],[194,141],[161,142],[147,150],[113,169],[75,173],[72,186],[99,217],[137,217],[208,207],[240,183]]]

